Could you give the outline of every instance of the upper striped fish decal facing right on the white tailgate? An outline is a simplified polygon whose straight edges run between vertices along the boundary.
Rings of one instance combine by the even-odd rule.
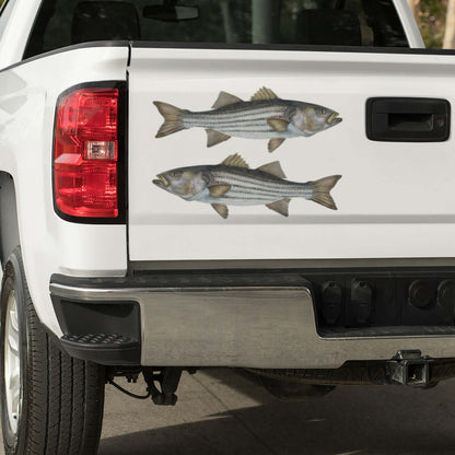
[[[224,142],[231,137],[270,139],[269,152],[287,139],[310,137],[340,124],[339,114],[317,104],[281,100],[270,89],[262,88],[250,101],[221,92],[213,110],[195,113],[167,103],[153,102],[164,124],[156,133],[163,138],[183,129],[205,128],[207,147]]]

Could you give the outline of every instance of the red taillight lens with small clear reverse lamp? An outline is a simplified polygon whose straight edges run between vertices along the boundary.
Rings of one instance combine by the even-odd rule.
[[[54,156],[58,209],[118,217],[118,89],[82,89],[60,98]]]

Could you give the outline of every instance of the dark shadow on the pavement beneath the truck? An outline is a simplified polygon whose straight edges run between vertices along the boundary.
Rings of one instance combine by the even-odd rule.
[[[226,378],[238,392],[252,392],[249,380]],[[259,406],[107,438],[100,455],[453,455],[454,388],[452,381],[430,390],[343,387],[298,404],[269,400],[258,389]]]

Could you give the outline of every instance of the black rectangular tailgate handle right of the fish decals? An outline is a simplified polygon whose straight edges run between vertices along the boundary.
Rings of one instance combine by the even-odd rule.
[[[436,98],[370,98],[366,136],[372,141],[444,142],[451,136],[451,103]]]

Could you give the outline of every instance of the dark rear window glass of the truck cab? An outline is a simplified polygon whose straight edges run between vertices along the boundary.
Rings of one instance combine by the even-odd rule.
[[[44,0],[24,57],[131,39],[408,47],[392,0]]]

